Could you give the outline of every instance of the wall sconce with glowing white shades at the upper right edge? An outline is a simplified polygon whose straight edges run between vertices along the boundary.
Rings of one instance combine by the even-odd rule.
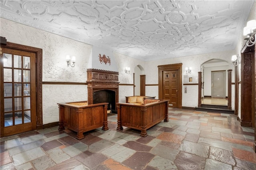
[[[246,27],[244,27],[244,35],[247,35],[246,46],[251,47],[256,43],[256,20],[250,20],[247,22]]]

